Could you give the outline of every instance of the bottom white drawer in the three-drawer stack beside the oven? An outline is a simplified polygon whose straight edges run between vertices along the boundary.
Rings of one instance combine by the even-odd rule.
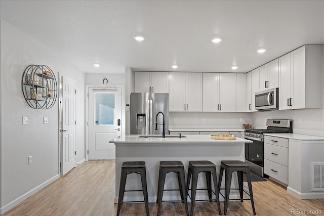
[[[264,159],[264,173],[288,185],[288,166]]]

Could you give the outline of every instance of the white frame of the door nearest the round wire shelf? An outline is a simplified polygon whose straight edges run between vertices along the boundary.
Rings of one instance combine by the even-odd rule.
[[[69,79],[71,79],[73,82],[75,82],[75,91],[76,91],[76,85],[77,85],[77,82],[75,79],[72,79],[71,77],[69,76],[66,76],[64,75],[63,73],[61,72],[58,72],[58,81],[59,81],[59,88],[58,88],[58,112],[59,112],[59,119],[58,119],[58,132],[59,132],[59,163],[58,163],[58,170],[59,170],[59,178],[62,177],[62,173],[63,173],[63,161],[62,158],[63,158],[63,136],[62,136],[62,132],[61,132],[61,129],[62,129],[62,126],[61,124],[63,123],[63,107],[62,107],[62,99],[63,99],[63,88],[62,88],[62,76],[65,76]],[[74,94],[74,102],[76,101],[76,95]],[[75,113],[75,106],[74,106],[74,113]],[[74,132],[74,134],[76,135],[76,130]],[[75,149],[75,141],[74,141],[74,149]],[[74,159],[74,167],[77,166],[77,162],[76,162],[76,158]]]

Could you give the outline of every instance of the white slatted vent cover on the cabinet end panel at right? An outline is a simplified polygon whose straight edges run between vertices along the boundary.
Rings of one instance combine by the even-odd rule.
[[[324,162],[310,163],[312,191],[324,191]]]

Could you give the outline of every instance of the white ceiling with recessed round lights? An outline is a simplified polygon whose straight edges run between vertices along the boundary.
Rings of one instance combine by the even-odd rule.
[[[302,45],[324,44],[324,1],[0,4],[2,19],[85,73],[124,73],[125,67],[248,72]],[[136,41],[134,35],[145,40]],[[214,37],[223,40],[213,44]],[[259,48],[267,51],[259,54]]]

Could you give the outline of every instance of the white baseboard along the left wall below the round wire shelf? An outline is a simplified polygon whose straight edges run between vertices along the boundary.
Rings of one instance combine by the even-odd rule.
[[[45,188],[46,186],[48,186],[49,184],[51,184],[52,182],[54,182],[58,178],[59,178],[59,175],[55,175],[51,179],[47,180],[46,182],[42,183],[41,185],[38,185],[37,187],[35,187],[33,189],[31,189],[27,193],[21,195],[20,197],[18,197],[15,200],[9,202],[5,206],[1,206],[0,214],[4,214],[5,212],[9,211],[11,208],[15,207],[16,205],[18,205],[19,203],[21,203],[22,201],[24,201],[25,199],[27,199],[31,195],[35,194],[36,192],[42,190],[43,188]]]

